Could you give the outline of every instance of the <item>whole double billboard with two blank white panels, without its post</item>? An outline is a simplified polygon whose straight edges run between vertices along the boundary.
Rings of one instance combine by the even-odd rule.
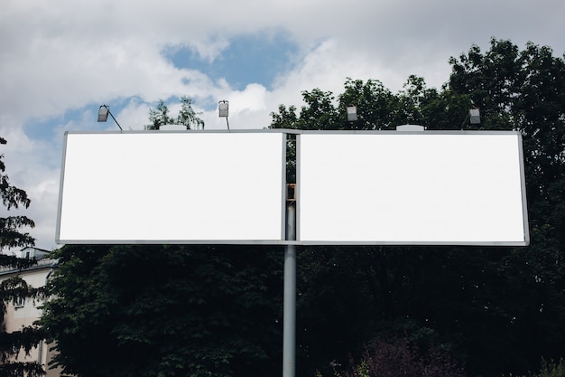
[[[297,139],[285,240],[286,134]],[[58,243],[529,243],[510,131],[116,131],[65,135]]]

